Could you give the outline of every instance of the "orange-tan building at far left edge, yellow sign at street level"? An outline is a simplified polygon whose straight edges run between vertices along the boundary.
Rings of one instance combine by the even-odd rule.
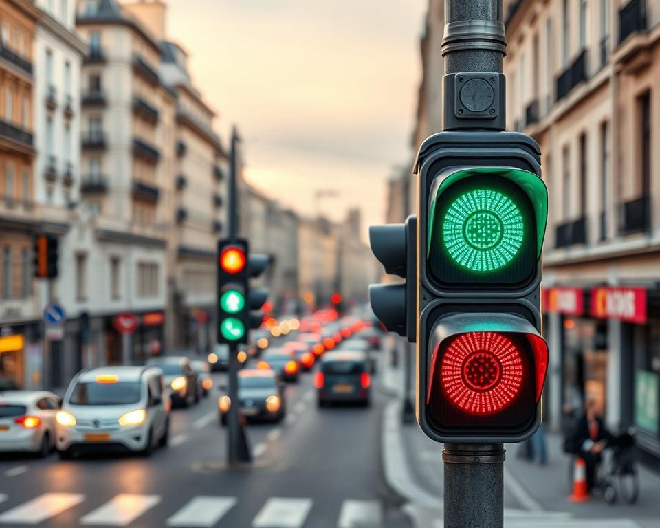
[[[39,382],[28,357],[41,352],[41,313],[32,280],[39,228],[34,182],[34,33],[39,10],[0,0],[0,380]]]

